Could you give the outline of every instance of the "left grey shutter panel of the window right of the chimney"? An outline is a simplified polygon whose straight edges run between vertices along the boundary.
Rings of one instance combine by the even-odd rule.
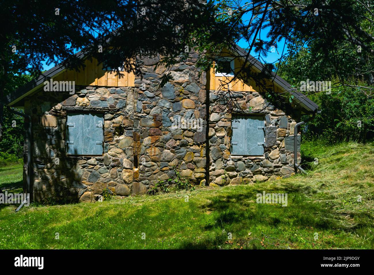
[[[245,117],[233,117],[231,152],[233,155],[245,155]]]

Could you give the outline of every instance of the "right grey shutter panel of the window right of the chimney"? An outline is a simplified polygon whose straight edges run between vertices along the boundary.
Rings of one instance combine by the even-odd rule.
[[[263,116],[248,116],[246,119],[246,153],[249,156],[264,155],[264,126]]]

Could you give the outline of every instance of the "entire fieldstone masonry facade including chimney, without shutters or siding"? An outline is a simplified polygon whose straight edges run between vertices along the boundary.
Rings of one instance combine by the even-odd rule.
[[[212,185],[263,181],[294,173],[296,122],[256,91],[234,95],[242,113],[265,116],[265,154],[230,156],[234,112],[218,102],[218,91],[210,91],[207,112],[206,74],[195,66],[197,57],[191,51],[190,58],[171,68],[156,66],[158,56],[139,58],[142,76],[135,77],[135,87],[77,87],[72,96],[39,91],[27,97],[25,113],[32,117],[35,141],[34,199],[95,202],[103,193],[118,198],[142,195],[159,180],[175,178],[176,171],[193,184],[205,185],[206,127]],[[165,73],[171,78],[160,88]],[[74,111],[104,114],[102,156],[66,155],[66,116]],[[201,125],[173,126],[181,120]]]

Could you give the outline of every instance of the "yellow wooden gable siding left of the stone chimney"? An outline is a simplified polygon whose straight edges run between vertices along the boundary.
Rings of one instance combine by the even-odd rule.
[[[63,81],[75,81],[75,85],[82,86],[108,86],[108,87],[134,87],[135,75],[134,73],[127,73],[122,71],[122,78],[116,76],[116,73],[110,73],[110,71],[103,71],[102,64],[97,66],[97,60],[92,59],[85,61],[86,67],[81,68],[80,71],[68,70],[64,71],[59,76],[53,78],[53,80]]]

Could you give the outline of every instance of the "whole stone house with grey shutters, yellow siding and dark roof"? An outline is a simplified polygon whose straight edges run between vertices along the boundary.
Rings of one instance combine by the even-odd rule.
[[[118,77],[95,59],[80,72],[46,71],[5,102],[26,117],[25,189],[37,201],[93,202],[103,192],[145,194],[176,171],[202,185],[295,173],[295,124],[318,106],[279,76],[269,85],[294,95],[292,104],[268,102],[255,82],[227,83],[244,55],[239,46],[223,52],[221,71],[209,72],[195,66],[193,50],[171,68],[156,66],[158,56],[139,57],[141,76]],[[261,66],[256,60],[253,70]],[[172,79],[160,87],[165,73]],[[240,111],[223,100],[228,90]],[[300,135],[296,145],[300,150]]]

